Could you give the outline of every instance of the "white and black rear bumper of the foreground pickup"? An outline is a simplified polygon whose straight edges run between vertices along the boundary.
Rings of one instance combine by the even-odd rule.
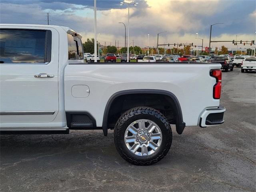
[[[224,123],[223,116],[225,111],[226,108],[223,106],[218,106],[218,108],[205,110],[200,117],[199,126],[209,127]]]

